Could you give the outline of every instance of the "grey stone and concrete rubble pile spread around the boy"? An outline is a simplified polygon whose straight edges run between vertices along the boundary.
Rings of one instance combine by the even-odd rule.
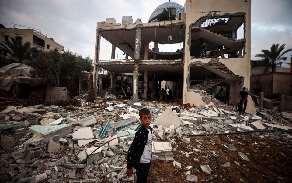
[[[179,152],[174,138],[187,145],[192,141],[188,135],[292,129],[281,125],[290,119],[282,118],[279,112],[256,109],[257,115],[240,115],[213,102],[206,106],[169,106],[97,99],[95,103],[82,102],[81,107],[71,106],[71,109],[38,108],[9,106],[0,112],[2,182],[134,182],[135,175],[125,175],[126,157],[135,132],[141,127],[138,113],[142,108],[148,108],[152,114],[152,160],[173,161],[174,167],[187,170],[189,182],[198,181],[197,175],[191,174],[193,167],[183,167],[183,160],[174,157],[176,154],[188,157],[193,152]],[[292,136],[285,132],[258,135],[281,139],[287,146],[292,142]],[[200,151],[200,145],[197,148],[193,150]],[[233,144],[225,148],[236,151]],[[249,161],[249,158],[238,152],[240,160]],[[194,161],[200,162],[196,158]],[[230,167],[230,162],[223,166]],[[202,163],[200,168],[207,174],[212,172],[209,165]]]

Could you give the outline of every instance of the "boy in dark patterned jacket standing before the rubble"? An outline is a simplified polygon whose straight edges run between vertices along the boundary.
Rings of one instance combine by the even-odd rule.
[[[136,169],[138,183],[147,181],[152,157],[152,128],[151,113],[149,109],[143,108],[139,112],[142,126],[135,134],[135,138],[128,150],[127,155],[127,176],[132,176],[133,167]]]

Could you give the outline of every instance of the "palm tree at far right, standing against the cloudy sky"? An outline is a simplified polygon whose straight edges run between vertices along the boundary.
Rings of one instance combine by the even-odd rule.
[[[255,56],[262,57],[262,61],[268,67],[268,69],[271,67],[272,72],[275,72],[275,68],[277,66],[281,67],[283,63],[286,63],[285,61],[287,60],[287,57],[283,55],[287,52],[292,51],[292,49],[287,49],[286,51],[283,51],[285,45],[286,44],[283,44],[279,47],[279,44],[273,44],[271,46],[271,50],[262,50],[262,54],[256,54]]]

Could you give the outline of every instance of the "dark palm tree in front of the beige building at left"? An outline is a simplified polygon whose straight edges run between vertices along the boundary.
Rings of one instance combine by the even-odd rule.
[[[30,42],[22,44],[21,41],[10,38],[10,40],[0,43],[0,51],[6,52],[7,57],[14,62],[25,64],[31,54],[36,52],[36,48],[30,47]]]

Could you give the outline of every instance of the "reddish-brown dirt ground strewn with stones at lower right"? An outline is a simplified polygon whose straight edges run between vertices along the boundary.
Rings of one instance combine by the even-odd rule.
[[[195,140],[203,140],[201,149],[196,147],[200,144]],[[240,145],[238,142],[244,145]],[[222,167],[222,174],[217,182],[292,182],[291,147],[269,137],[259,138],[258,135],[254,134],[205,136],[191,137],[189,144],[176,138],[176,143],[189,149],[199,149],[201,153],[209,156],[211,153],[208,150],[215,151],[221,165],[230,162],[230,168]],[[230,144],[235,145],[236,151],[228,151],[228,148],[224,147],[224,145]],[[181,163],[181,168],[174,167],[173,160],[154,160],[151,163],[147,182],[188,182],[185,180],[187,166],[193,166],[190,171],[192,175],[198,176],[198,182],[210,181],[219,174],[219,165],[211,158],[203,157],[204,155],[197,152],[186,157],[180,151],[191,152],[190,150],[176,147],[176,145],[172,145],[172,147],[177,149],[174,152],[174,159]],[[246,153],[250,161],[241,160],[238,152]],[[199,159],[200,162],[195,162],[194,158]],[[234,161],[240,165],[236,165]],[[206,164],[210,166],[211,174],[206,174],[200,169],[200,165]]]

